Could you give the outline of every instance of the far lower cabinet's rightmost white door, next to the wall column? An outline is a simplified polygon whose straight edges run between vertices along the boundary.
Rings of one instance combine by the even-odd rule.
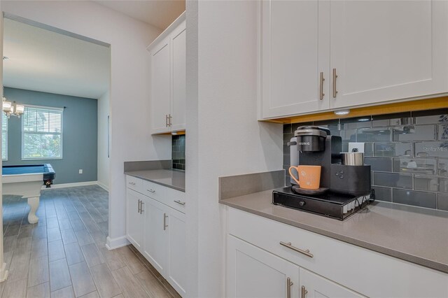
[[[172,208],[169,208],[169,210],[167,219],[169,234],[167,281],[181,296],[185,296],[187,279],[186,215]]]

